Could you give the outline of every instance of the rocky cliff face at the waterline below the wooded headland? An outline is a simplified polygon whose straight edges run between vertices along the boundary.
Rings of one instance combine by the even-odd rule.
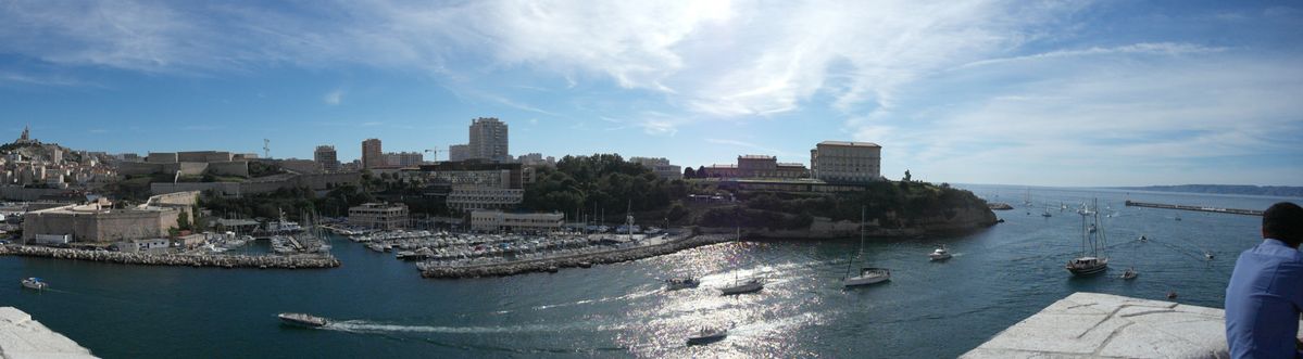
[[[920,237],[941,234],[963,234],[995,224],[995,212],[985,207],[963,207],[943,211],[937,216],[899,221],[900,225],[882,226],[878,220],[868,222],[865,234],[869,237]],[[705,233],[732,233],[732,228],[701,228]],[[765,228],[744,228],[744,237],[752,238],[804,238],[826,239],[859,237],[860,224],[856,221],[831,221],[816,217],[805,229],[773,230]]]

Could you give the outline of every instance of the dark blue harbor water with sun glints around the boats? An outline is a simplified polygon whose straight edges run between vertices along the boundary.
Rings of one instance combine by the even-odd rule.
[[[890,282],[843,289],[857,238],[743,241],[644,260],[470,280],[421,278],[410,261],[334,241],[334,269],[139,267],[0,256],[0,306],[13,306],[104,358],[950,358],[1075,291],[1222,307],[1260,217],[1124,207],[1124,200],[1265,209],[1280,199],[1092,189],[963,186],[1012,211],[973,234],[869,239],[857,264]],[[1025,196],[1032,207],[1023,204]],[[1110,269],[1071,277],[1075,209],[1098,199]],[[1068,209],[1062,211],[1062,206]],[[1042,216],[1049,213],[1049,217]],[[1179,217],[1179,220],[1178,220]],[[1140,242],[1145,235],[1149,241]],[[744,238],[745,239],[745,238]],[[945,245],[947,261],[928,254]],[[1208,259],[1210,254],[1213,259]],[[1126,268],[1139,278],[1123,281]],[[666,291],[661,280],[701,278]],[[761,276],[756,294],[718,287]],[[42,277],[51,290],[23,290]],[[331,319],[281,325],[279,312]],[[685,346],[698,328],[723,341]]]

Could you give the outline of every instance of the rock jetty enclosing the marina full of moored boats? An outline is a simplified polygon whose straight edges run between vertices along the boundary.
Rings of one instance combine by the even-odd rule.
[[[609,264],[629,260],[638,260],[658,255],[667,255],[687,248],[722,243],[735,239],[731,234],[692,235],[681,239],[672,239],[661,245],[638,246],[631,248],[618,248],[590,254],[577,254],[559,258],[517,260],[506,263],[491,263],[464,267],[426,265],[421,268],[421,276],[426,278],[472,278],[512,276],[530,272],[552,272],[556,268],[581,267],[590,264]]]

